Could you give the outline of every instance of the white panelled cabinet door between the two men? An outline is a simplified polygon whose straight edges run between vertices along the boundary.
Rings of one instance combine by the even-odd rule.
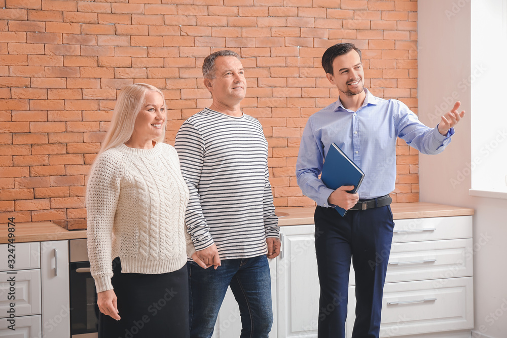
[[[277,258],[278,336],[316,337],[319,282],[315,226],[281,227],[282,254]]]

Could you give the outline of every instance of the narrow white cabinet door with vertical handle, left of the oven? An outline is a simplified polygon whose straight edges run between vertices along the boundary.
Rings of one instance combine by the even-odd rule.
[[[70,335],[68,241],[41,242],[43,334]]]

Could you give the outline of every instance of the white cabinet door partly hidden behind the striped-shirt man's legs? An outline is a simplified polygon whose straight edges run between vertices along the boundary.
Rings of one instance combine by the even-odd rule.
[[[269,333],[270,338],[276,338],[276,259],[269,259],[271,280],[271,298],[273,299],[273,326]],[[220,269],[220,268],[219,268]],[[227,293],[220,308],[219,317],[216,319],[212,338],[238,338],[241,334],[241,317],[239,307],[231,288]]]

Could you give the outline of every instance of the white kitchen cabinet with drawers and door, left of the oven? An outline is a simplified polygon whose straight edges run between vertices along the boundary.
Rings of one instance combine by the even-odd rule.
[[[8,269],[8,248],[0,244],[0,336],[68,338],[68,241],[15,243],[15,269]],[[14,301],[8,299],[11,276]],[[5,318],[10,303],[15,304],[15,330],[7,328]]]

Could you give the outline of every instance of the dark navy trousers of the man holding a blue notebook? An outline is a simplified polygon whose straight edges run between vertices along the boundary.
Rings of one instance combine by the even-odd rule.
[[[334,208],[317,206],[318,338],[345,338],[351,261],[357,302],[352,338],[378,338],[393,227],[390,206],[349,210],[344,217]]]

